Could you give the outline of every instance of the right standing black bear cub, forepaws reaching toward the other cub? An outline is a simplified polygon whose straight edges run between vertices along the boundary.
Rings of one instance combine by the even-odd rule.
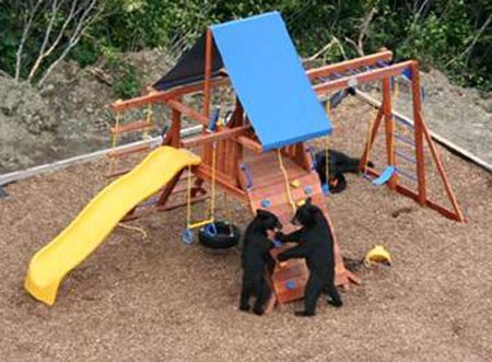
[[[342,301],[335,287],[333,237],[323,211],[312,203],[311,198],[300,207],[292,223],[302,227],[289,235],[277,233],[276,237],[298,245],[278,255],[279,261],[291,258],[305,258],[309,278],[304,292],[304,311],[298,316],[314,316],[316,303],[323,292],[327,293],[333,306],[341,306]]]

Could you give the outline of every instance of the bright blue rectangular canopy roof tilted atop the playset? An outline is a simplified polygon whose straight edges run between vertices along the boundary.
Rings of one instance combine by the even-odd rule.
[[[263,150],[331,133],[279,12],[213,25],[211,31]]]

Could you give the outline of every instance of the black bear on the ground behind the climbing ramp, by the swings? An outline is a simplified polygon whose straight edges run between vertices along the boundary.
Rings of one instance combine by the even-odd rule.
[[[328,151],[328,177],[330,183],[330,191],[338,194],[347,188],[347,180],[343,174],[360,172],[359,165],[361,159],[351,157],[343,152],[337,150]],[[326,151],[319,151],[315,154],[316,172],[319,175],[321,185],[326,184]],[[374,164],[370,161],[367,166],[374,167]]]

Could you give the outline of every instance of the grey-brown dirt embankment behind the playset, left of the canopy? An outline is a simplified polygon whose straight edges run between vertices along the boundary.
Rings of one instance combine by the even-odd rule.
[[[122,58],[138,69],[142,85],[169,68],[156,50]],[[110,80],[120,77],[103,70]],[[116,98],[94,68],[73,61],[56,69],[40,90],[0,77],[0,174],[107,148],[113,116],[105,106]]]

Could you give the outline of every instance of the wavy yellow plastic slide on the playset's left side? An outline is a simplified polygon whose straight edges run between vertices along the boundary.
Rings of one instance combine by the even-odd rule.
[[[63,277],[109,235],[138,203],[157,192],[174,175],[200,157],[186,150],[160,147],[130,173],[104,188],[55,240],[31,260],[24,287],[52,305]]]

